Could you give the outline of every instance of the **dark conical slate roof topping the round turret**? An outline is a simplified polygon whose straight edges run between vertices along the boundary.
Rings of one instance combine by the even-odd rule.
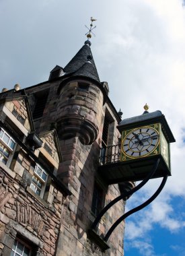
[[[81,47],[78,53],[69,61],[65,66],[64,71],[66,75],[81,75],[83,77],[89,77],[100,83],[100,78],[94,59],[91,53],[91,42],[85,41],[85,44]]]

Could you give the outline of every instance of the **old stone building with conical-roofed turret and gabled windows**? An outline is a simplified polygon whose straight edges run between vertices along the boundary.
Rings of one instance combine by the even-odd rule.
[[[89,40],[48,81],[0,94],[0,250],[2,255],[123,255],[124,223],[105,250],[89,236],[104,205],[124,184],[98,172],[100,148],[119,143],[120,123],[100,82]],[[106,234],[124,213],[112,207],[97,227]],[[30,254],[29,254],[30,253]]]

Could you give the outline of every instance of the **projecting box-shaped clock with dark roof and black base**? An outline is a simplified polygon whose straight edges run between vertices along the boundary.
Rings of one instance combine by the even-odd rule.
[[[108,184],[142,181],[171,175],[170,143],[175,142],[168,123],[157,110],[120,121],[121,143],[109,146],[100,174]],[[154,169],[156,163],[157,167]]]

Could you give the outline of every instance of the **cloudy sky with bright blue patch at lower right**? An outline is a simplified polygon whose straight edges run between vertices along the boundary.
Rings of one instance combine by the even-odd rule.
[[[97,19],[91,51],[100,80],[122,119],[161,110],[176,143],[172,177],[144,210],[126,219],[125,255],[185,255],[185,6],[182,0],[0,0],[0,84],[12,89],[48,79],[83,46]],[[149,181],[126,210],[157,189]]]

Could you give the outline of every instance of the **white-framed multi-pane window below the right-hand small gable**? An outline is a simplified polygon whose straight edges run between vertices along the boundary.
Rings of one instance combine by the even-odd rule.
[[[41,198],[44,195],[44,189],[46,187],[46,181],[48,179],[48,174],[42,169],[38,164],[36,164],[34,170],[34,176],[32,177],[32,183],[30,188]]]

